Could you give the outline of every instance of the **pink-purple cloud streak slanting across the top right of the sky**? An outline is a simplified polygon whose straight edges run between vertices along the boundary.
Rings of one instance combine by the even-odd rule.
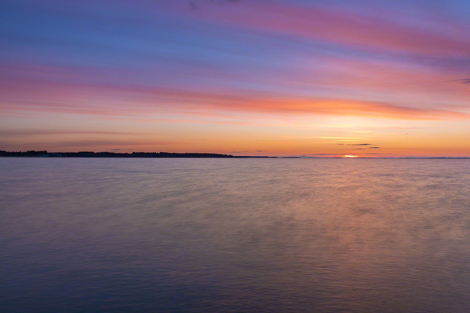
[[[243,28],[290,34],[368,49],[425,55],[470,54],[463,27],[442,19],[433,29],[406,25],[338,8],[301,7],[278,1],[243,1],[236,6],[214,6],[191,13],[192,17]],[[442,24],[446,32],[441,32]]]

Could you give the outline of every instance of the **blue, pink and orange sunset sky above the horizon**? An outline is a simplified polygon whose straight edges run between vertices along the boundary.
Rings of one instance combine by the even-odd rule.
[[[470,156],[467,0],[6,1],[0,150]]]

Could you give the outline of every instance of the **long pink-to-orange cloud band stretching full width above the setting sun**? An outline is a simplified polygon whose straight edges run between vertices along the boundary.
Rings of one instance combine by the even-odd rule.
[[[441,120],[469,118],[467,113],[398,106],[354,99],[273,97],[261,92],[199,92],[125,85],[86,85],[28,80],[2,80],[4,113],[55,112],[144,117],[178,110],[211,113],[252,112],[270,115],[338,115],[392,119]],[[21,90],[21,92],[19,92]]]

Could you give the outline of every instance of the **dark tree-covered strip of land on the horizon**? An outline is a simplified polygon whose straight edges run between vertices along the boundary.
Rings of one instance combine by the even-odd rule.
[[[0,157],[42,157],[42,158],[277,158],[267,156],[239,156],[220,153],[170,153],[170,152],[47,152],[43,151],[4,151],[0,150]]]

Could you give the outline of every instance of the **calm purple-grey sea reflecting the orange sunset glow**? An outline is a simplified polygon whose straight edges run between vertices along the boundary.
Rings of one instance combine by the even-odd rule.
[[[0,311],[470,312],[470,160],[0,158]]]

